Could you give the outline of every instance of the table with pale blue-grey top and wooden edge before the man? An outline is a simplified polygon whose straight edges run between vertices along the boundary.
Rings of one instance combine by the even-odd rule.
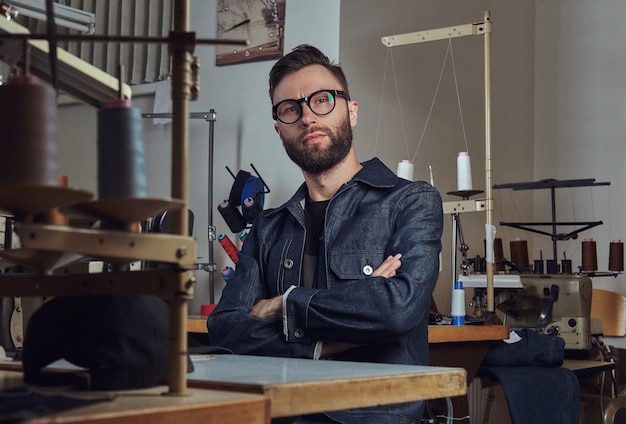
[[[248,355],[193,357],[194,388],[263,394],[270,415],[290,417],[464,395],[462,368],[374,364]]]

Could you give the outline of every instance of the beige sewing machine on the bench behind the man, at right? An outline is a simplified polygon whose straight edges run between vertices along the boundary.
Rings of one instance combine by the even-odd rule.
[[[486,278],[459,278],[464,288],[474,288],[472,305],[481,316]],[[591,279],[581,274],[494,276],[494,304],[504,314],[503,323],[557,335],[565,349],[591,348],[591,294]]]

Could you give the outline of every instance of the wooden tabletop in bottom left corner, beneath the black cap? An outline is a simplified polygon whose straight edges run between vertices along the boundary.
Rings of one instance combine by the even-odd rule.
[[[2,390],[24,387],[21,371],[0,370]],[[117,392],[63,392],[38,388],[38,393],[68,395],[106,400],[20,421],[27,423],[97,423],[97,424],[269,424],[269,400],[260,395],[207,389],[189,389],[185,395],[165,395],[167,386]],[[0,415],[0,421],[4,421]]]

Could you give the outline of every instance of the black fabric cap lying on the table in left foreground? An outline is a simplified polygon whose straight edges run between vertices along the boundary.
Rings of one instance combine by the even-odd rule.
[[[169,307],[155,296],[56,297],[31,317],[24,381],[46,384],[43,367],[64,358],[90,371],[90,388],[152,387],[167,377]]]

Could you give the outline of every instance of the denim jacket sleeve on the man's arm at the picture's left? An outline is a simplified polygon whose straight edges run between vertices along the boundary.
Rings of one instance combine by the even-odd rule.
[[[281,321],[263,320],[249,314],[260,299],[272,296],[266,293],[263,282],[258,243],[258,233],[253,226],[239,253],[235,275],[209,315],[210,343],[236,354],[313,358],[315,340],[306,337],[296,339],[295,343],[287,342]]]

